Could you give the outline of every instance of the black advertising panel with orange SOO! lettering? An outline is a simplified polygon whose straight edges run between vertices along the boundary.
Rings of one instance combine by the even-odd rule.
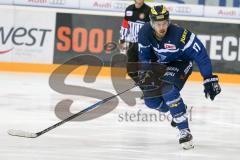
[[[106,49],[106,44],[117,44],[120,25],[117,17],[58,13],[54,63],[62,64],[80,54],[93,54],[108,65],[116,50]]]

